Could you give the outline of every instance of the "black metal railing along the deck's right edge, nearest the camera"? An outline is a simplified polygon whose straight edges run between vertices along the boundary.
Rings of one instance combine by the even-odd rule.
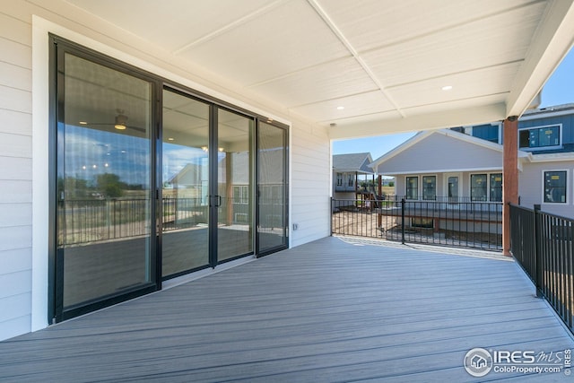
[[[574,332],[574,220],[510,205],[510,252],[564,323]]]

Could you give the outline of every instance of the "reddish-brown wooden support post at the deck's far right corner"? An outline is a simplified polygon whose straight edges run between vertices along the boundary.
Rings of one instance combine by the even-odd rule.
[[[518,204],[518,118],[504,120],[502,153],[502,253],[510,255],[510,204]]]

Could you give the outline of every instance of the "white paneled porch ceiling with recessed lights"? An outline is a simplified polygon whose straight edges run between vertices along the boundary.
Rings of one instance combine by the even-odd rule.
[[[334,139],[522,114],[572,46],[573,2],[67,0]]]

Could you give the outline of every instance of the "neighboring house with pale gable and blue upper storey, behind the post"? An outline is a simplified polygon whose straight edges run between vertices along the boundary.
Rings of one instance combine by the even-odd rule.
[[[529,110],[518,120],[521,205],[574,217],[573,121],[573,104]],[[407,200],[502,202],[500,130],[493,123],[420,132],[371,166],[395,176],[396,195]]]

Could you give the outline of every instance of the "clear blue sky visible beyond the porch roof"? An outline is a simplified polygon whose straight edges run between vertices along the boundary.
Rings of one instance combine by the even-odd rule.
[[[570,53],[564,57],[561,65],[556,68],[544,85],[540,108],[569,102],[574,102],[574,49],[570,49]],[[370,152],[373,160],[377,160],[378,157],[403,144],[415,134],[416,132],[334,141],[333,154]]]

